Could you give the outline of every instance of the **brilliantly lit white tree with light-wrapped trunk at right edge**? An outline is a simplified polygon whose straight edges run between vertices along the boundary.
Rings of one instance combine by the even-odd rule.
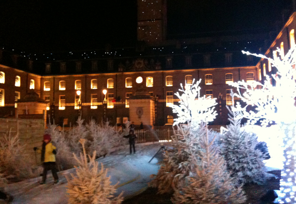
[[[279,52],[279,49],[277,51]],[[268,59],[268,61],[277,69],[277,74],[272,74],[271,78],[275,80],[276,85],[272,86],[270,77],[266,76],[264,83],[252,82],[246,83],[240,81],[233,83],[236,87],[239,97],[247,105],[242,106],[237,103],[237,111],[240,111],[248,122],[255,124],[260,121],[263,126],[269,123],[276,123],[283,132],[282,146],[285,149],[284,168],[282,170],[282,179],[280,182],[281,193],[279,202],[296,204],[296,82],[295,82],[295,48],[291,49],[286,56],[280,58],[267,58],[263,55],[243,53],[254,55],[259,58]],[[255,111],[247,111],[248,105],[255,106]]]

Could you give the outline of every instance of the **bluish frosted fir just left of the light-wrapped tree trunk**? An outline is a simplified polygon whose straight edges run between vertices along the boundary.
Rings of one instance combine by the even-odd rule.
[[[227,107],[230,124],[221,135],[220,153],[224,157],[227,170],[240,183],[262,183],[265,178],[264,155],[256,149],[258,137],[241,128],[240,112],[234,106]]]

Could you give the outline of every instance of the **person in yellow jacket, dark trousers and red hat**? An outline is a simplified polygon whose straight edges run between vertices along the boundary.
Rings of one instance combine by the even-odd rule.
[[[51,143],[51,136],[49,134],[43,135],[42,148],[39,149],[34,147],[34,151],[41,153],[41,162],[43,164],[43,175],[40,184],[44,184],[46,181],[47,171],[51,170],[52,176],[54,178],[54,183],[59,182],[59,177],[57,174],[57,167],[55,163],[55,154],[57,153],[56,147]]]

